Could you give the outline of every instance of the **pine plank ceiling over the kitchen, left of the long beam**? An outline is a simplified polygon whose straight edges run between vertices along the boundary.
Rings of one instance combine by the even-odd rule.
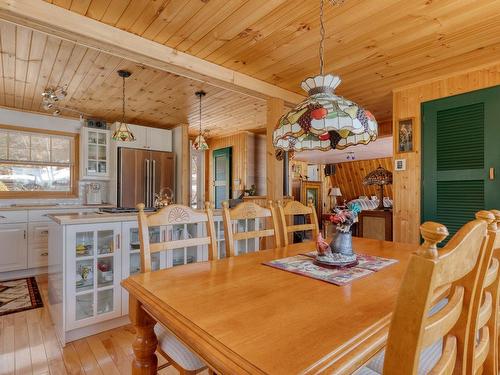
[[[198,98],[203,89],[203,129],[210,136],[265,126],[265,102],[198,81],[85,48],[25,27],[0,21],[0,106],[44,112],[46,87],[68,85],[61,107],[113,122],[121,119],[122,82],[116,71],[130,70],[126,81],[126,120],[170,127],[199,124]],[[78,113],[62,111],[78,117]]]

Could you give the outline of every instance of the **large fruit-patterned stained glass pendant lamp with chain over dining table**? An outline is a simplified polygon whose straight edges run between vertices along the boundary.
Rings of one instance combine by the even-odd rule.
[[[338,5],[341,0],[329,0]],[[324,74],[325,28],[320,0],[320,74],[302,81],[307,98],[282,116],[273,132],[273,144],[284,151],[332,149],[367,144],[377,138],[377,121],[371,112],[335,94],[339,76]]]

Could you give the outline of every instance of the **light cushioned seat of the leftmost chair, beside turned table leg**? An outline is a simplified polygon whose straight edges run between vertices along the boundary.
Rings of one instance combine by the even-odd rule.
[[[158,346],[179,366],[188,371],[196,371],[206,367],[205,363],[189,350],[175,335],[167,328],[156,324],[154,331],[158,338]]]

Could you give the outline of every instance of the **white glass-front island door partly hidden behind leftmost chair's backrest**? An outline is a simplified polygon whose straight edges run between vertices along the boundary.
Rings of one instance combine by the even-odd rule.
[[[122,223],[123,250],[122,250],[122,279],[135,275],[141,271],[139,228],[136,221]],[[149,228],[149,242],[162,242],[165,238],[163,227]],[[166,254],[164,251],[151,254],[151,269],[157,271],[166,268]],[[128,313],[128,292],[122,288],[122,315]]]

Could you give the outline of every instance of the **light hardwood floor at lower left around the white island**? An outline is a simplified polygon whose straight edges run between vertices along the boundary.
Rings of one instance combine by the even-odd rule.
[[[44,307],[0,316],[0,374],[130,374],[134,329],[127,325],[61,347],[47,310],[47,277],[37,277]],[[160,364],[165,361],[159,356]],[[159,372],[178,374],[172,366]],[[204,371],[200,374],[208,374]]]

